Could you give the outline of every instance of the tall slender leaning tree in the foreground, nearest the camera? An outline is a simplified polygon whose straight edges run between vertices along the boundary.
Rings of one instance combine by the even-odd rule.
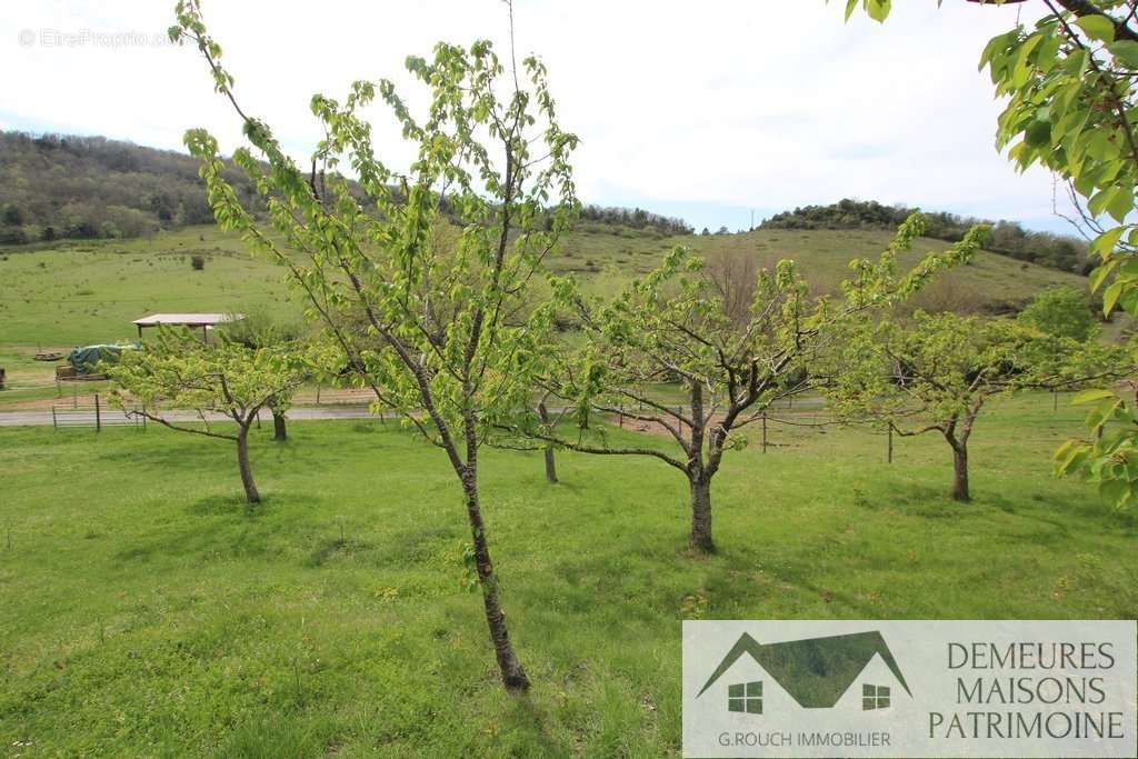
[[[312,110],[327,137],[311,171],[302,172],[270,127],[241,109],[196,0],[179,3],[171,36],[192,43],[208,63],[253,148],[242,147],[233,160],[300,257],[283,251],[242,206],[223,175],[216,140],[191,130],[185,141],[203,162],[218,223],[287,267],[310,314],[377,403],[446,455],[462,490],[502,682],[527,688],[490,561],[479,449],[498,422],[530,407],[530,378],[552,353],[552,308],[531,304],[528,286],[576,205],[568,159],[577,139],[558,125],[545,67],[536,58],[519,67],[511,52],[506,71],[484,41],[465,49],[439,43],[430,59],[407,59],[429,89],[422,118],[386,80],[354,83],[343,102],[318,94]],[[377,92],[415,149],[405,174],[376,157],[370,124],[360,116]],[[345,158],[371,213],[337,170]],[[364,314],[382,349],[340,329],[335,314],[346,304]]]

